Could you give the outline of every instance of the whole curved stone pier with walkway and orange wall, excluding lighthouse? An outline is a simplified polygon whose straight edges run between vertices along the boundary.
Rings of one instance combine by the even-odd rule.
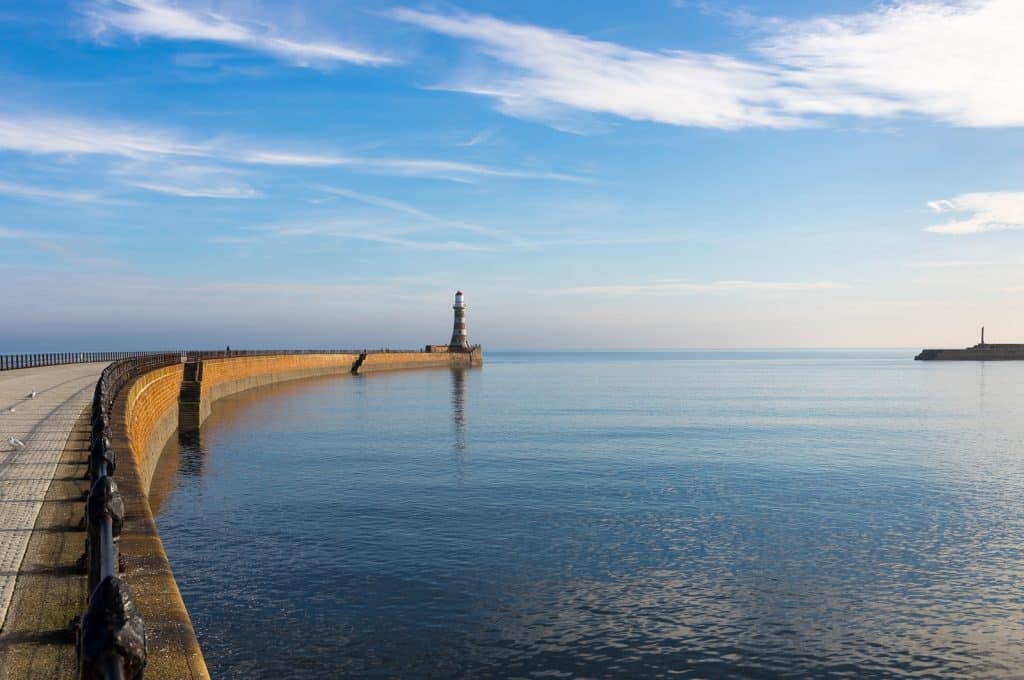
[[[217,399],[302,378],[483,360],[478,345],[122,353],[74,363],[87,356],[0,356],[0,680],[139,677],[139,651],[151,680],[209,677],[147,494],[167,441],[179,427],[200,427]],[[39,366],[47,363],[58,365]],[[99,496],[104,476],[113,490]],[[84,521],[90,488],[88,505],[98,510]],[[87,526],[97,533],[83,554]],[[82,667],[95,660],[80,661],[89,638],[83,629],[96,621],[88,613],[95,593],[111,583],[127,593],[116,598],[127,606],[115,619],[127,611],[137,624],[140,615],[144,644],[125,651],[110,642],[99,660],[110,669],[90,675]]]

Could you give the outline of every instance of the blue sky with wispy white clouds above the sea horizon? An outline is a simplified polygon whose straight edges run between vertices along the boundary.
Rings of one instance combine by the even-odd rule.
[[[0,0],[0,352],[1024,342],[1020,0]]]

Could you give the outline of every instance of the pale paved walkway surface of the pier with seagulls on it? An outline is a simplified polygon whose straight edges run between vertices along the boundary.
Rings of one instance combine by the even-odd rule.
[[[92,399],[104,367],[106,363],[73,364],[0,372],[0,630],[68,435]],[[28,398],[33,391],[35,398]],[[9,437],[25,448],[10,445]]]

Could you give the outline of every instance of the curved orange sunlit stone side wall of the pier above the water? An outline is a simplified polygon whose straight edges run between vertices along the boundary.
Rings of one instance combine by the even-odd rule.
[[[114,448],[120,454],[115,479],[127,506],[120,544],[126,562],[125,578],[145,621],[146,678],[209,680],[203,651],[148,503],[157,463],[178,428],[182,397],[198,392],[202,422],[217,399],[261,385],[353,371],[470,367],[482,362],[478,348],[465,353],[231,356],[202,362],[195,376],[198,382],[185,381],[184,365],[176,365],[145,373],[122,389],[112,418]]]

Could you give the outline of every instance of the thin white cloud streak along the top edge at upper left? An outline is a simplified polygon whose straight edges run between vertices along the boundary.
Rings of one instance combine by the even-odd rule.
[[[122,34],[132,38],[161,38],[233,45],[309,67],[336,62],[377,66],[391,57],[337,41],[306,36],[285,37],[266,23],[243,23],[210,9],[187,9],[165,0],[100,0],[89,5],[97,38]]]

